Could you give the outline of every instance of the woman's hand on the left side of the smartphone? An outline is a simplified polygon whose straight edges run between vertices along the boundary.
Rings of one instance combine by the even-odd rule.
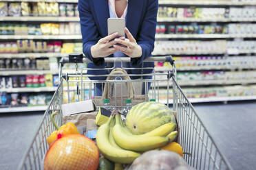
[[[113,45],[117,43],[116,40],[113,40],[114,38],[116,38],[116,36],[118,36],[117,32],[98,40],[97,44],[91,47],[92,57],[105,58],[112,53],[116,53],[118,49],[113,47]]]

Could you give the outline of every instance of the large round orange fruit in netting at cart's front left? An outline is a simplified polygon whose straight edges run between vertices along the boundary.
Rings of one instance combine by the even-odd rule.
[[[44,169],[96,170],[98,161],[98,147],[92,140],[81,134],[70,134],[50,145]]]

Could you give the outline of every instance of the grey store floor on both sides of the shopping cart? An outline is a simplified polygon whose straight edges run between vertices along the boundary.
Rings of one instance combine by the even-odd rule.
[[[233,169],[256,167],[256,101],[194,104]],[[17,169],[43,114],[0,114],[0,169]]]

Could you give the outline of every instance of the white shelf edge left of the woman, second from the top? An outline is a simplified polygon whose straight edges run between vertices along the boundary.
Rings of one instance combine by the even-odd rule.
[[[1,40],[20,40],[20,39],[30,39],[30,40],[81,40],[81,35],[4,35],[0,36]]]

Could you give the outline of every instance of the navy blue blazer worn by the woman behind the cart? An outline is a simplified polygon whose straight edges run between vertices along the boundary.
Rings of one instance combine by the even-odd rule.
[[[107,19],[109,18],[108,0],[79,0],[78,11],[83,36],[83,53],[92,63],[88,68],[103,69],[113,64],[105,63],[103,58],[92,58],[91,47],[100,38],[107,36]],[[156,17],[158,0],[129,0],[126,16],[126,27],[142,48],[140,58],[131,58],[130,68],[153,68],[153,62],[142,61],[151,56],[156,34]],[[108,57],[113,57],[110,55]],[[151,73],[152,69],[129,70],[129,74]],[[88,70],[89,75],[108,74],[107,70]],[[90,77],[91,80],[105,80],[106,77]],[[132,79],[138,77],[131,77]],[[145,78],[145,77],[143,77]]]

